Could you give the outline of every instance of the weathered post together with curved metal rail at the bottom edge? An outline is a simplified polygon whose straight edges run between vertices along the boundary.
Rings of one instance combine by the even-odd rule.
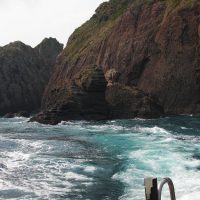
[[[157,178],[146,178],[144,180],[146,200],[161,200],[162,189],[168,184],[171,200],[176,200],[173,181],[170,178],[164,178],[158,187]]]

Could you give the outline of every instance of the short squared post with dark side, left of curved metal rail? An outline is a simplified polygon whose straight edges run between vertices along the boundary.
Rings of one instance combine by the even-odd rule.
[[[145,196],[146,200],[158,200],[158,181],[157,178],[145,178]]]

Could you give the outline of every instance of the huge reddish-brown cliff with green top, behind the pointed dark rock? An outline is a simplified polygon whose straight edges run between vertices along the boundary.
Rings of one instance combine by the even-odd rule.
[[[59,56],[45,90],[43,112],[60,110],[69,94],[63,91],[80,71],[96,64],[104,74],[110,69],[119,74],[117,86],[110,81],[105,91],[109,113],[116,113],[110,118],[200,114],[199,15],[198,0],[101,4]]]

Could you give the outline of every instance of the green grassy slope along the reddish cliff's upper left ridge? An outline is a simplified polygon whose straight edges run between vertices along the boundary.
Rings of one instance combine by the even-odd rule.
[[[102,41],[115,21],[134,0],[110,0],[102,3],[90,20],[77,28],[69,38],[65,55],[75,63],[81,54]]]

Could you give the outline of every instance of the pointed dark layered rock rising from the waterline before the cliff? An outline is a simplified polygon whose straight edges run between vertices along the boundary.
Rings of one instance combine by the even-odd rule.
[[[31,121],[57,124],[62,120],[108,119],[105,90],[106,80],[102,68],[86,66],[63,90],[54,88],[54,95],[47,100],[50,106]]]

